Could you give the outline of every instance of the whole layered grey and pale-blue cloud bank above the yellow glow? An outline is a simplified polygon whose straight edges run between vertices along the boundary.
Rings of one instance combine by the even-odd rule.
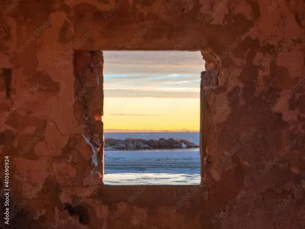
[[[199,98],[205,64],[199,51],[127,51],[120,58],[117,53],[103,51],[105,97],[128,96],[137,86],[135,97],[178,98],[189,92],[188,98]],[[157,71],[166,57],[170,60]]]

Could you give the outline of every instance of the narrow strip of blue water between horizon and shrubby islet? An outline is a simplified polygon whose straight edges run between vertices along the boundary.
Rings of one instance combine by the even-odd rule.
[[[182,138],[199,145],[199,132],[104,132],[104,138],[126,139],[143,138],[145,140],[159,138]]]

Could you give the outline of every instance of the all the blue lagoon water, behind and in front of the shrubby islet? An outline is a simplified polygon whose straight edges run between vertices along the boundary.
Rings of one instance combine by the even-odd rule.
[[[104,137],[125,139],[183,138],[199,144],[199,132],[104,133]],[[147,134],[147,133],[146,133]],[[191,140],[192,139],[192,140]],[[187,185],[200,184],[198,148],[111,150],[104,153],[104,184]]]

